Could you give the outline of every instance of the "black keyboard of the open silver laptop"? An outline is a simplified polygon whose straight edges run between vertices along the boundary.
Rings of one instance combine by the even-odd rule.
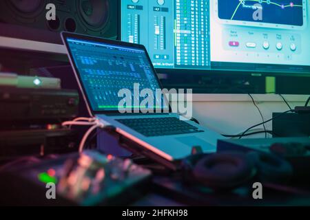
[[[146,137],[204,132],[178,118],[131,118],[116,120]]]

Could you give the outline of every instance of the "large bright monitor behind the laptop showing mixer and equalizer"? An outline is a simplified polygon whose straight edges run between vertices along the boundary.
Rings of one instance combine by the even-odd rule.
[[[121,40],[158,69],[310,74],[309,0],[122,0]]]

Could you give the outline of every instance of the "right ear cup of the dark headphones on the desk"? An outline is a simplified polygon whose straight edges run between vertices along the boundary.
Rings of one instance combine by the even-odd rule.
[[[262,152],[250,152],[248,156],[254,161],[257,176],[260,181],[269,183],[283,183],[289,181],[293,175],[293,168],[284,159]]]

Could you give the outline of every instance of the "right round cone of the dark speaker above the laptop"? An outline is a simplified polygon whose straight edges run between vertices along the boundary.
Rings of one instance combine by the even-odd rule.
[[[81,17],[92,28],[103,28],[110,14],[107,0],[81,0],[79,3]]]

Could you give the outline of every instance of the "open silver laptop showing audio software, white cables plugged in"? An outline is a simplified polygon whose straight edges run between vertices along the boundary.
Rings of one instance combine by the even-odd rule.
[[[156,89],[163,89],[143,45],[68,32],[61,36],[90,115],[114,126],[131,143],[127,145],[132,151],[175,168],[193,148],[214,153],[217,141],[225,139],[191,120],[180,120],[183,116],[172,113],[166,98],[159,106],[147,106],[163,110],[160,113],[119,111],[121,89],[133,91],[134,85],[140,85],[140,89],[152,89],[154,94]],[[125,106],[130,107],[142,106]]]

